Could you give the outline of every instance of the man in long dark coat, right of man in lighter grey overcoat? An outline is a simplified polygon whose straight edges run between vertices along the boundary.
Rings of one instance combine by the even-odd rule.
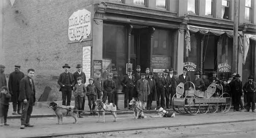
[[[153,78],[153,72],[148,73],[148,84],[149,84],[149,89],[150,89],[150,95],[147,97],[147,110],[153,110],[152,106],[152,101],[157,101],[157,88],[155,86],[155,79]]]

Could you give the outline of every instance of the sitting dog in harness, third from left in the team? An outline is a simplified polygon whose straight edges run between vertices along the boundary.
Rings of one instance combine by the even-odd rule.
[[[131,105],[132,109],[133,109],[133,117],[134,119],[140,119],[140,118],[146,118],[146,116],[144,116],[143,111],[142,111],[142,105],[141,102],[137,102],[135,100],[131,100],[129,105]]]

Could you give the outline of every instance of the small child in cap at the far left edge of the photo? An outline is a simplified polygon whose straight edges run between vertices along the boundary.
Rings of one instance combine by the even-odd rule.
[[[9,100],[11,98],[11,94],[8,92],[8,88],[6,86],[3,86],[1,88],[0,93],[0,120],[1,124],[0,126],[9,126],[7,123],[7,114],[9,109]]]

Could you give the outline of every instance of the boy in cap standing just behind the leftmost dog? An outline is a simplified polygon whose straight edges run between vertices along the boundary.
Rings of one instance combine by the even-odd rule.
[[[77,79],[78,84],[75,85],[73,93],[75,96],[75,107],[78,110],[82,109],[82,103],[83,103],[83,97],[85,96],[85,94],[87,93],[86,91],[86,86],[84,84],[82,84],[82,77],[78,77]],[[81,112],[79,111],[78,113],[78,117],[79,118],[83,118],[81,116]]]

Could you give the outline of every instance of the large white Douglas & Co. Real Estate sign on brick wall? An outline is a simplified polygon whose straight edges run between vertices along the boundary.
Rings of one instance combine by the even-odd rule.
[[[74,12],[68,18],[68,38],[70,41],[85,39],[91,35],[91,12],[86,9]]]

